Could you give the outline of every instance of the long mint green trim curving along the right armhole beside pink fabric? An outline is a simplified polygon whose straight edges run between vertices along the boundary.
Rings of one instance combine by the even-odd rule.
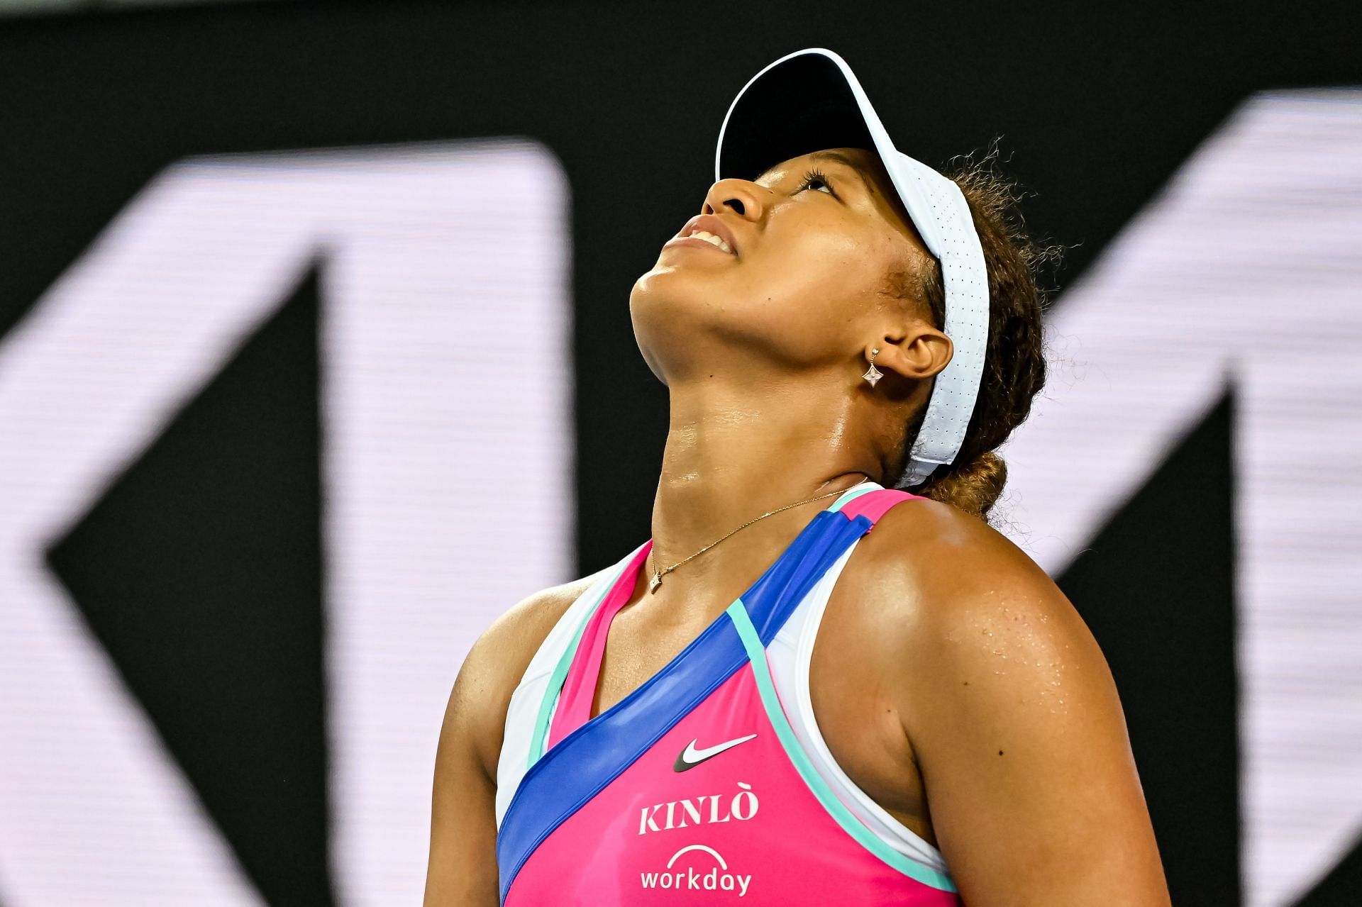
[[[808,753],[799,746],[799,741],[794,737],[794,729],[790,727],[790,722],[785,716],[785,710],[780,708],[775,684],[771,682],[771,667],[767,665],[765,647],[761,646],[761,637],[757,635],[757,628],[752,625],[748,607],[742,603],[741,598],[729,605],[727,614],[733,620],[733,625],[738,629],[738,636],[742,637],[742,647],[748,650],[748,659],[752,662],[752,673],[757,678],[757,690],[761,693],[761,705],[765,707],[767,718],[771,719],[771,726],[775,727],[775,734],[780,738],[780,745],[785,746],[790,761],[794,763],[794,767],[804,776],[805,783],[813,791],[813,795],[819,798],[819,802],[823,803],[823,808],[842,825],[843,831],[900,873],[940,891],[956,891],[955,882],[951,881],[949,876],[930,866],[923,866],[914,859],[908,859],[885,844],[836,798],[832,789],[828,787],[823,776],[813,768],[813,763],[809,761]]]

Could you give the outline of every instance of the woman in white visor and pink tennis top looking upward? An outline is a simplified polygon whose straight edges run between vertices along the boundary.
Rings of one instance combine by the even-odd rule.
[[[652,538],[470,651],[428,907],[1167,904],[1102,652],[985,519],[1045,376],[1007,185],[899,153],[823,49],[716,176],[631,297]]]

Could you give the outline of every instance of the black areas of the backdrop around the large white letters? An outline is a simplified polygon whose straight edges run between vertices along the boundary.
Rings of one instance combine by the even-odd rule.
[[[1359,34],[1357,3],[387,0],[10,20],[0,335],[178,158],[533,136],[567,168],[579,238],[580,576],[646,538],[666,436],[665,388],[636,353],[629,287],[699,210],[723,112],[760,67],[805,46],[839,52],[900,147],[933,165],[1001,136],[1005,170],[1036,193],[1027,222],[1071,246],[1062,286],[1248,95],[1362,84]],[[49,552],[275,904],[334,899],[319,308],[309,279]],[[287,392],[262,394],[281,380]],[[1177,904],[1241,902],[1233,409],[1231,391],[1058,577],[1121,690]],[[127,614],[124,599],[144,610]],[[206,711],[219,716],[211,729]],[[1354,848],[1299,903],[1359,903],[1359,876]]]

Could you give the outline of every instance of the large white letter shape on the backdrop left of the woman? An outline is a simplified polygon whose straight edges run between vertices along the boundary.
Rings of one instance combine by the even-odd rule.
[[[0,342],[7,907],[260,903],[42,549],[319,259],[334,877],[419,902],[459,665],[568,579],[565,215],[522,140],[191,159]]]

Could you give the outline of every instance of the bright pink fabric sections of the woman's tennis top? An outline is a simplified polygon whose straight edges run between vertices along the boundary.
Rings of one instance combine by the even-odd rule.
[[[873,523],[915,497],[881,489],[842,512]],[[588,620],[549,749],[591,720],[610,620],[650,549],[651,542]],[[684,753],[699,761],[682,768]],[[889,865],[839,824],[782,745],[746,661],[557,825],[519,868],[504,903],[959,907],[953,885],[945,885]]]

